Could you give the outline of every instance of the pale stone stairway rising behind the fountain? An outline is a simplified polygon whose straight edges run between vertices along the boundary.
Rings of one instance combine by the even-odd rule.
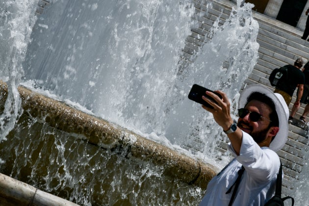
[[[186,45],[181,55],[183,67],[194,61],[195,52],[203,45],[210,28],[218,16],[221,15],[219,24],[222,25],[229,18],[232,6],[236,7],[235,4],[228,0],[193,0],[193,2],[196,8],[196,20],[199,21],[199,27],[192,28],[192,34],[186,40]],[[203,17],[201,17],[202,15]],[[271,71],[286,64],[293,64],[300,57],[307,60],[309,58],[309,42],[301,39],[303,31],[293,26],[286,25],[254,11],[253,16],[259,24],[257,39],[259,43],[259,58],[251,75],[244,82],[244,86],[246,84],[259,83],[274,90],[268,80]],[[296,100],[296,91],[289,109],[292,108]],[[288,140],[285,146],[282,150],[278,151],[283,163],[283,194],[285,195],[292,193],[294,182],[297,181],[297,177],[299,177],[304,165],[303,156],[307,151],[308,126],[298,121],[303,111],[304,105],[301,106],[295,115],[294,125],[289,125]],[[309,118],[307,119],[309,121]],[[196,144],[200,144],[200,142],[197,140]],[[221,142],[218,150],[225,152],[227,150],[227,143]]]

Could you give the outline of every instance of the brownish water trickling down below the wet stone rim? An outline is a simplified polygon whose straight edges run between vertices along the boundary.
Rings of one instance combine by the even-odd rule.
[[[198,205],[204,191],[162,168],[24,115],[0,143],[0,173],[79,205]]]

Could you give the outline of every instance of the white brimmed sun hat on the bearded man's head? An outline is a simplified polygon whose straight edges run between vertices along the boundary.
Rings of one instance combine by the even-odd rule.
[[[273,151],[278,151],[283,148],[288,135],[288,116],[289,110],[281,94],[274,93],[270,89],[260,84],[248,85],[240,94],[238,101],[238,108],[243,108],[247,103],[247,98],[253,92],[260,92],[265,94],[275,103],[276,111],[279,119],[279,131],[273,141],[270,143],[269,148]]]

